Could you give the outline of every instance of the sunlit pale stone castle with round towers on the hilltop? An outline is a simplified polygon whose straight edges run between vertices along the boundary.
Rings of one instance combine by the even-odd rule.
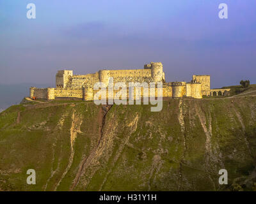
[[[202,96],[222,96],[230,91],[230,89],[211,89],[210,75],[193,75],[191,82],[166,82],[163,64],[150,62],[150,64],[144,65],[144,69],[103,69],[87,75],[73,75],[72,70],[60,70],[56,74],[56,88],[31,87],[30,97],[41,99],[81,98],[88,101],[92,100],[97,92],[93,90],[93,85],[102,82],[104,86],[108,87],[111,77],[113,84],[116,82],[124,82],[127,85],[129,82],[146,82],[148,84],[163,82],[163,97],[182,98],[186,96],[200,99]],[[127,89],[128,92],[129,89]],[[110,98],[107,94],[108,97]]]

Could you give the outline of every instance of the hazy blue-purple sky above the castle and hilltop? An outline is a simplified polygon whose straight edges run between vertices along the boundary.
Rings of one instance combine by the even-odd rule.
[[[212,88],[256,84],[256,1],[0,0],[0,84],[54,84],[64,68],[78,75],[159,61],[168,82],[211,75]]]

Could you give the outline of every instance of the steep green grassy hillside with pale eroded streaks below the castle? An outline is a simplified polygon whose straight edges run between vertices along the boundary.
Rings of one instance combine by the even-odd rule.
[[[2,191],[255,190],[256,97],[15,105],[0,113],[0,154]]]

